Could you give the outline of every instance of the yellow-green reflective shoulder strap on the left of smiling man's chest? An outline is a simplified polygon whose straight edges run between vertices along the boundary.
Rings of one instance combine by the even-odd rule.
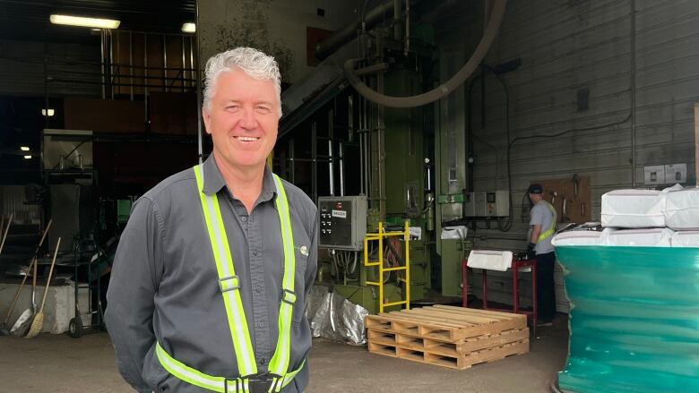
[[[226,279],[236,275],[233,267],[233,258],[230,255],[229,239],[220,216],[219,198],[216,194],[206,195],[203,189],[203,171],[201,166],[194,167],[197,190],[202,200],[204,220],[209,230],[213,259],[216,261],[216,270],[219,279]],[[238,290],[223,293],[223,303],[226,305],[226,315],[229,320],[230,335],[233,347],[236,351],[237,370],[240,375],[252,375],[257,373],[255,353],[247,329],[246,314],[243,310],[243,301]]]

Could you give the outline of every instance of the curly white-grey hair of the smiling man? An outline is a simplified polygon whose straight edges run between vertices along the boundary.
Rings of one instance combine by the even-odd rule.
[[[202,107],[211,110],[211,98],[215,94],[216,82],[221,73],[232,71],[235,68],[241,69],[250,78],[257,81],[273,81],[274,89],[277,90],[279,101],[279,115],[281,117],[281,75],[279,65],[274,57],[267,56],[263,52],[252,47],[237,47],[218,55],[211,56],[206,62],[206,85],[203,90]]]

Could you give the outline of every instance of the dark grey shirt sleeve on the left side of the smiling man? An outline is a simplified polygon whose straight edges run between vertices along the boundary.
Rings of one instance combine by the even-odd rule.
[[[119,372],[134,389],[143,392],[151,391],[142,379],[142,367],[155,342],[152,318],[163,235],[157,205],[147,198],[136,201],[116,248],[107,292],[105,322]]]

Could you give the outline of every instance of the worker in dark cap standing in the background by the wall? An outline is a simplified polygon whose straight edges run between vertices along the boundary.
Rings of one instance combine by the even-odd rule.
[[[529,186],[531,208],[529,221],[530,237],[527,254],[536,256],[537,260],[537,303],[539,307],[539,324],[550,325],[556,314],[556,291],[554,288],[554,265],[556,255],[551,244],[556,232],[556,209],[544,201],[544,190],[540,184]]]

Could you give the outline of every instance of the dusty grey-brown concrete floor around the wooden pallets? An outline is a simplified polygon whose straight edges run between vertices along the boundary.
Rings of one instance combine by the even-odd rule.
[[[369,354],[366,346],[314,341],[307,393],[367,392],[549,392],[565,363],[567,320],[539,328],[531,353],[478,364],[468,370]],[[116,371],[106,333],[74,339],[42,334],[27,340],[0,337],[0,392],[128,392]]]

